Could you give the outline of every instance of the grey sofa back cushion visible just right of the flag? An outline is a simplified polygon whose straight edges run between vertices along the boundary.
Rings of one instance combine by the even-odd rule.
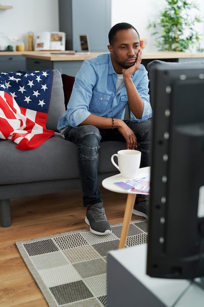
[[[51,97],[49,103],[49,111],[46,121],[46,128],[57,130],[57,124],[60,116],[65,112],[65,98],[63,91],[62,77],[58,70],[53,70],[53,81],[51,89]]]

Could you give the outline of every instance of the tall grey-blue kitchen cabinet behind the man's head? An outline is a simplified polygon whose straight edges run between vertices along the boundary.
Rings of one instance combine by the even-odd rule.
[[[91,52],[108,52],[110,0],[59,0],[59,28],[66,33],[66,50],[81,51],[80,34],[87,34]]]

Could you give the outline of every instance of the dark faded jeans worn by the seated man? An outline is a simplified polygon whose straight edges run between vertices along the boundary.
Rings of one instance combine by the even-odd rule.
[[[127,120],[125,123],[136,135],[137,150],[142,153],[140,166],[149,166],[151,119],[140,123]],[[117,129],[98,129],[87,125],[76,128],[68,127],[65,130],[65,139],[77,145],[84,206],[103,203],[98,186],[100,143],[104,141],[125,142],[125,138]]]

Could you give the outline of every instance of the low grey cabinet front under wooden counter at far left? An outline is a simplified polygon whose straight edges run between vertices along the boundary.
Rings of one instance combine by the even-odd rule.
[[[25,58],[21,55],[0,55],[1,72],[25,71],[25,67]]]

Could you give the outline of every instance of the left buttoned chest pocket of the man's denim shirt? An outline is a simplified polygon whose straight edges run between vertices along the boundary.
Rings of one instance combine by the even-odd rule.
[[[93,95],[90,102],[90,111],[98,114],[109,111],[111,106],[111,96],[111,94],[103,94],[93,90]]]

